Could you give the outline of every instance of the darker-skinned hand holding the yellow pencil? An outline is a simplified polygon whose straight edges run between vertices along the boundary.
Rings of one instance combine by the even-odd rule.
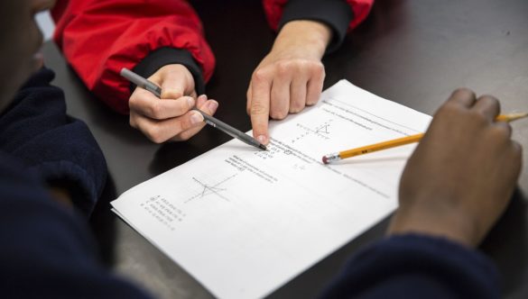
[[[419,232],[468,246],[486,236],[514,192],[522,149],[496,98],[454,92],[403,170],[389,233]]]

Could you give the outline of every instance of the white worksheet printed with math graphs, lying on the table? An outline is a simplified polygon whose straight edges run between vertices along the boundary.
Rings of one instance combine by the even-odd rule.
[[[392,213],[415,145],[332,165],[322,156],[423,132],[430,121],[341,80],[319,104],[271,122],[267,150],[230,140],[112,205],[212,294],[263,297]]]

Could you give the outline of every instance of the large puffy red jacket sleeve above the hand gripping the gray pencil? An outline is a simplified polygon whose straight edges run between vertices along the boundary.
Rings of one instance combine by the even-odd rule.
[[[118,113],[128,113],[130,84],[119,76],[154,50],[188,50],[207,81],[215,67],[197,14],[183,0],[59,0],[54,40],[71,67]]]

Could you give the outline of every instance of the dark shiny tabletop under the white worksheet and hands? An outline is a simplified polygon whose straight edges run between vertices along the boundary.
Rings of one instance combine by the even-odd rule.
[[[218,66],[208,96],[219,119],[246,131],[248,79],[273,43],[258,0],[191,1],[206,29]],[[106,154],[112,177],[106,196],[161,174],[229,140],[206,128],[187,142],[156,145],[90,95],[55,45],[44,47],[54,83],[64,88],[69,113],[88,123]],[[377,0],[370,17],[343,47],[324,59],[325,88],[346,78],[375,95],[432,114],[459,86],[501,99],[503,111],[528,110],[528,1]],[[514,139],[528,161],[528,122],[514,122]],[[483,149],[486,150],[486,149]],[[481,249],[503,275],[506,297],[528,294],[528,168],[505,217]],[[163,298],[209,298],[196,280],[108,213],[102,202],[92,221],[107,263]],[[353,252],[384,235],[387,220],[284,285],[271,297],[313,297]],[[112,252],[115,254],[112,255]]]

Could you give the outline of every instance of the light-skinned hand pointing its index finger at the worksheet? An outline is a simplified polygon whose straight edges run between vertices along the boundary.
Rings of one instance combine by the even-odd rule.
[[[261,143],[269,142],[270,116],[282,120],[319,101],[325,77],[320,59],[330,39],[329,27],[314,21],[292,21],[279,32],[247,89],[247,113]]]

